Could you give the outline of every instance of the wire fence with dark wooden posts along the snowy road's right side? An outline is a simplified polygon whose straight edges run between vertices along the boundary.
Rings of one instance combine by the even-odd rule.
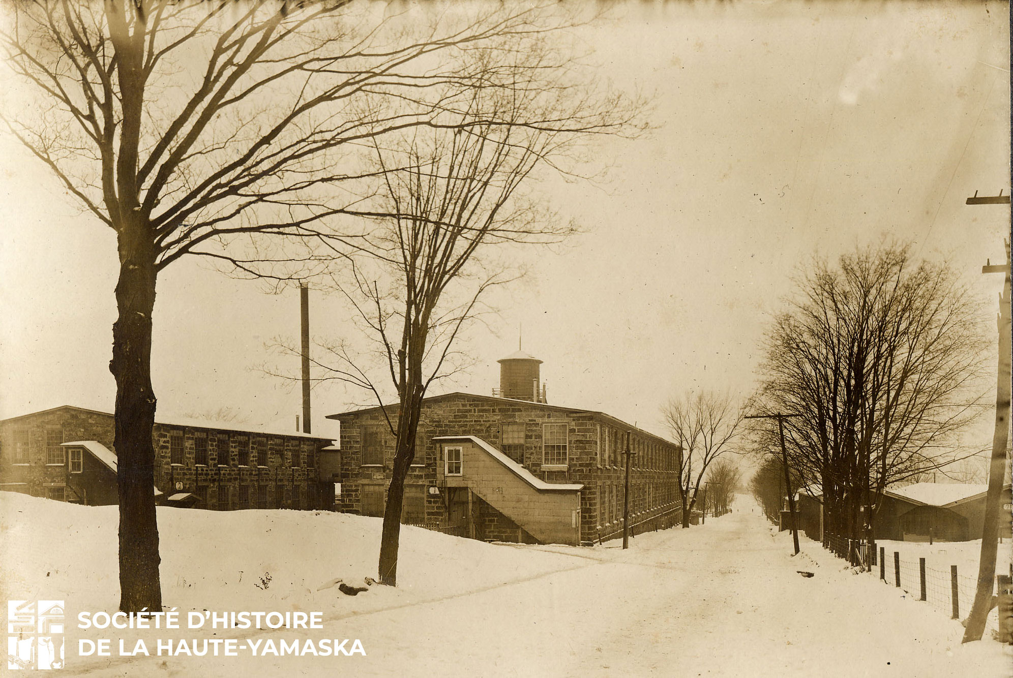
[[[883,583],[899,587],[915,600],[925,601],[950,618],[966,620],[970,613],[978,591],[978,577],[960,574],[955,565],[950,566],[949,572],[926,567],[924,558],[911,558],[885,549],[877,553],[874,545],[868,547],[863,539],[848,539],[836,534],[825,535],[824,547],[852,566],[875,574]],[[993,581],[992,587],[992,594],[997,596],[998,580]],[[989,612],[985,632],[999,634],[998,605]]]

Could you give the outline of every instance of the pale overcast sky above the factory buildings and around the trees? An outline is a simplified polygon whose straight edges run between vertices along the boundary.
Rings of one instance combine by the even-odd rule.
[[[1001,276],[981,266],[1002,259],[1009,209],[964,200],[1010,187],[1007,4],[631,2],[579,38],[615,86],[654,94],[656,129],[603,143],[607,183],[546,187],[583,233],[528,253],[529,276],[468,337],[475,366],[436,393],[488,394],[523,324],[550,403],[664,434],[658,409],[673,395],[748,394],[796,266],[883,237],[948,257],[995,308]],[[3,78],[0,90],[17,86]],[[9,137],[0,158],[0,418],[111,411],[113,234]],[[294,423],[298,390],[256,367],[265,342],[298,336],[298,304],[201,261],[166,269],[159,416],[229,407]],[[311,322],[317,337],[356,338],[319,292]],[[333,430],[323,415],[368,402],[317,389],[315,432]]]

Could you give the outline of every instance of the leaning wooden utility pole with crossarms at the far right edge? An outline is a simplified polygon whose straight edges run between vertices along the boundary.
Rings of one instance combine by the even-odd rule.
[[[977,196],[978,193],[976,192]],[[1009,196],[1004,202],[1009,204]],[[967,204],[995,204],[971,202]],[[1001,204],[1001,203],[1000,203]],[[962,643],[982,640],[985,621],[992,609],[992,582],[996,576],[996,550],[999,538],[999,515],[1002,508],[1003,481],[1006,475],[1006,441],[1010,425],[1010,243],[1006,241],[1005,265],[993,265],[986,260],[983,273],[1003,273],[1003,293],[999,298],[999,375],[996,383],[996,429],[992,435],[992,462],[989,468],[989,489],[985,496],[985,520],[982,527],[982,556],[978,562],[978,591],[967,617]],[[1000,591],[1002,594],[1002,591]],[[1000,623],[1002,623],[1000,621]]]

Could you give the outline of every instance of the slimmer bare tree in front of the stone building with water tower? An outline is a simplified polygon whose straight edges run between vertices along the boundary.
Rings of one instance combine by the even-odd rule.
[[[324,344],[331,360],[317,367],[323,371],[318,380],[337,379],[371,394],[395,438],[381,583],[397,583],[404,480],[422,399],[436,380],[467,366],[468,356],[456,350],[462,331],[483,313],[486,290],[517,276],[497,255],[514,250],[502,246],[555,243],[574,231],[530,194],[536,171],[558,171],[579,159],[589,135],[632,130],[639,106],[614,96],[576,95],[560,79],[564,66],[530,46],[497,62],[497,69],[512,73],[510,92],[472,93],[461,114],[485,122],[453,132],[416,130],[400,143],[374,146],[382,177],[374,202],[381,216],[369,243],[332,282],[376,350]],[[546,122],[530,124],[532,116]]]

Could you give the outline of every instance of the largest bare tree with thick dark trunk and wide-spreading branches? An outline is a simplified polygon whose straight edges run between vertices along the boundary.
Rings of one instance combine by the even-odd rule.
[[[347,0],[11,7],[0,36],[6,65],[34,98],[4,116],[7,129],[116,234],[120,606],[157,610],[150,358],[159,273],[202,255],[292,278],[368,242],[339,219],[360,214],[353,185],[362,176],[349,159],[362,145],[416,125],[467,128],[468,92],[514,84],[473,51],[523,51],[560,22],[536,5],[380,18],[375,5]]]

